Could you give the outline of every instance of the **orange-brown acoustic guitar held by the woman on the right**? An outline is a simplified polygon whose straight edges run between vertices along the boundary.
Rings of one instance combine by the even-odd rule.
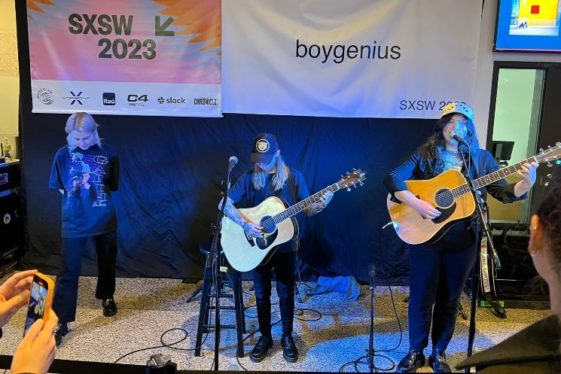
[[[473,181],[476,190],[516,173],[524,163],[538,163],[557,160],[561,157],[561,143],[542,150],[517,164],[499,169]],[[435,219],[423,218],[411,206],[388,195],[387,206],[391,223],[401,240],[409,244],[435,242],[448,231],[456,221],[470,217],[475,211],[475,200],[470,187],[457,170],[447,170],[426,180],[408,180],[407,189],[419,199],[428,201],[441,215]]]

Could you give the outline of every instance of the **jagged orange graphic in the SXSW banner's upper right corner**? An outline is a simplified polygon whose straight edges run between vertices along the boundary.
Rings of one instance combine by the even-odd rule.
[[[207,43],[201,50],[220,47],[222,37],[221,0],[153,0],[165,8],[162,14],[174,18],[173,23],[182,26],[178,34],[193,35],[188,43]]]

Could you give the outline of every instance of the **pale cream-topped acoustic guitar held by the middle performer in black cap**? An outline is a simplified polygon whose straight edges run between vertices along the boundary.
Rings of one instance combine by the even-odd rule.
[[[239,209],[242,216],[263,227],[263,237],[260,238],[246,234],[240,225],[225,216],[222,219],[220,244],[226,259],[238,271],[250,271],[266,263],[278,245],[298,235],[298,223],[294,218],[296,214],[319,202],[324,192],[337,192],[344,188],[350,191],[351,187],[362,186],[365,179],[364,171],[353,169],[338,182],[288,208],[281,199],[271,196],[256,207]]]

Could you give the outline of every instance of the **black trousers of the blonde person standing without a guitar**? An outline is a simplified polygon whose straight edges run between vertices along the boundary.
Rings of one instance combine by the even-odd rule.
[[[117,236],[110,232],[92,237],[97,252],[98,278],[95,297],[112,298],[115,293],[115,263],[117,261]],[[56,279],[53,309],[60,322],[76,319],[76,302],[78,299],[78,279],[82,265],[82,256],[90,237],[63,238],[62,264]]]

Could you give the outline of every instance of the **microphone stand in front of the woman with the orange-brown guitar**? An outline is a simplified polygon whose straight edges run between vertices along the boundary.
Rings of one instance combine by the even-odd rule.
[[[463,139],[462,139],[463,141]],[[475,207],[476,207],[476,222],[477,222],[477,227],[476,227],[476,231],[475,231],[475,245],[477,248],[477,255],[476,255],[476,261],[473,265],[473,268],[471,269],[471,308],[470,308],[470,320],[469,320],[469,333],[468,333],[468,348],[467,348],[467,356],[470,357],[472,352],[473,352],[473,341],[475,338],[475,311],[476,311],[476,306],[477,306],[477,292],[478,292],[478,287],[479,287],[479,278],[481,276],[480,272],[478,271],[479,267],[477,266],[479,263],[479,256],[480,256],[480,241],[481,241],[481,236],[480,236],[480,229],[481,227],[483,227],[483,232],[485,233],[485,236],[487,237],[487,241],[488,243],[492,243],[493,242],[493,236],[491,235],[491,229],[489,227],[489,224],[487,222],[487,220],[485,219],[485,213],[484,213],[484,209],[485,209],[485,201],[483,200],[483,198],[479,195],[478,191],[475,189],[474,184],[473,184],[473,179],[470,176],[470,169],[469,169],[469,164],[466,160],[466,157],[464,155],[464,152],[462,152],[459,148],[461,147],[461,145],[464,144],[466,147],[468,147],[469,149],[469,145],[465,144],[465,141],[463,142],[458,142],[458,150],[460,151],[460,155],[462,157],[462,162],[464,165],[464,176],[466,178],[468,187],[473,195],[473,198],[475,200]],[[493,248],[492,244],[490,244],[490,247]],[[493,250],[494,253],[494,250]],[[494,253],[494,255],[496,256],[496,254]],[[498,257],[497,257],[498,259]],[[469,372],[469,368],[466,369],[466,373]]]

